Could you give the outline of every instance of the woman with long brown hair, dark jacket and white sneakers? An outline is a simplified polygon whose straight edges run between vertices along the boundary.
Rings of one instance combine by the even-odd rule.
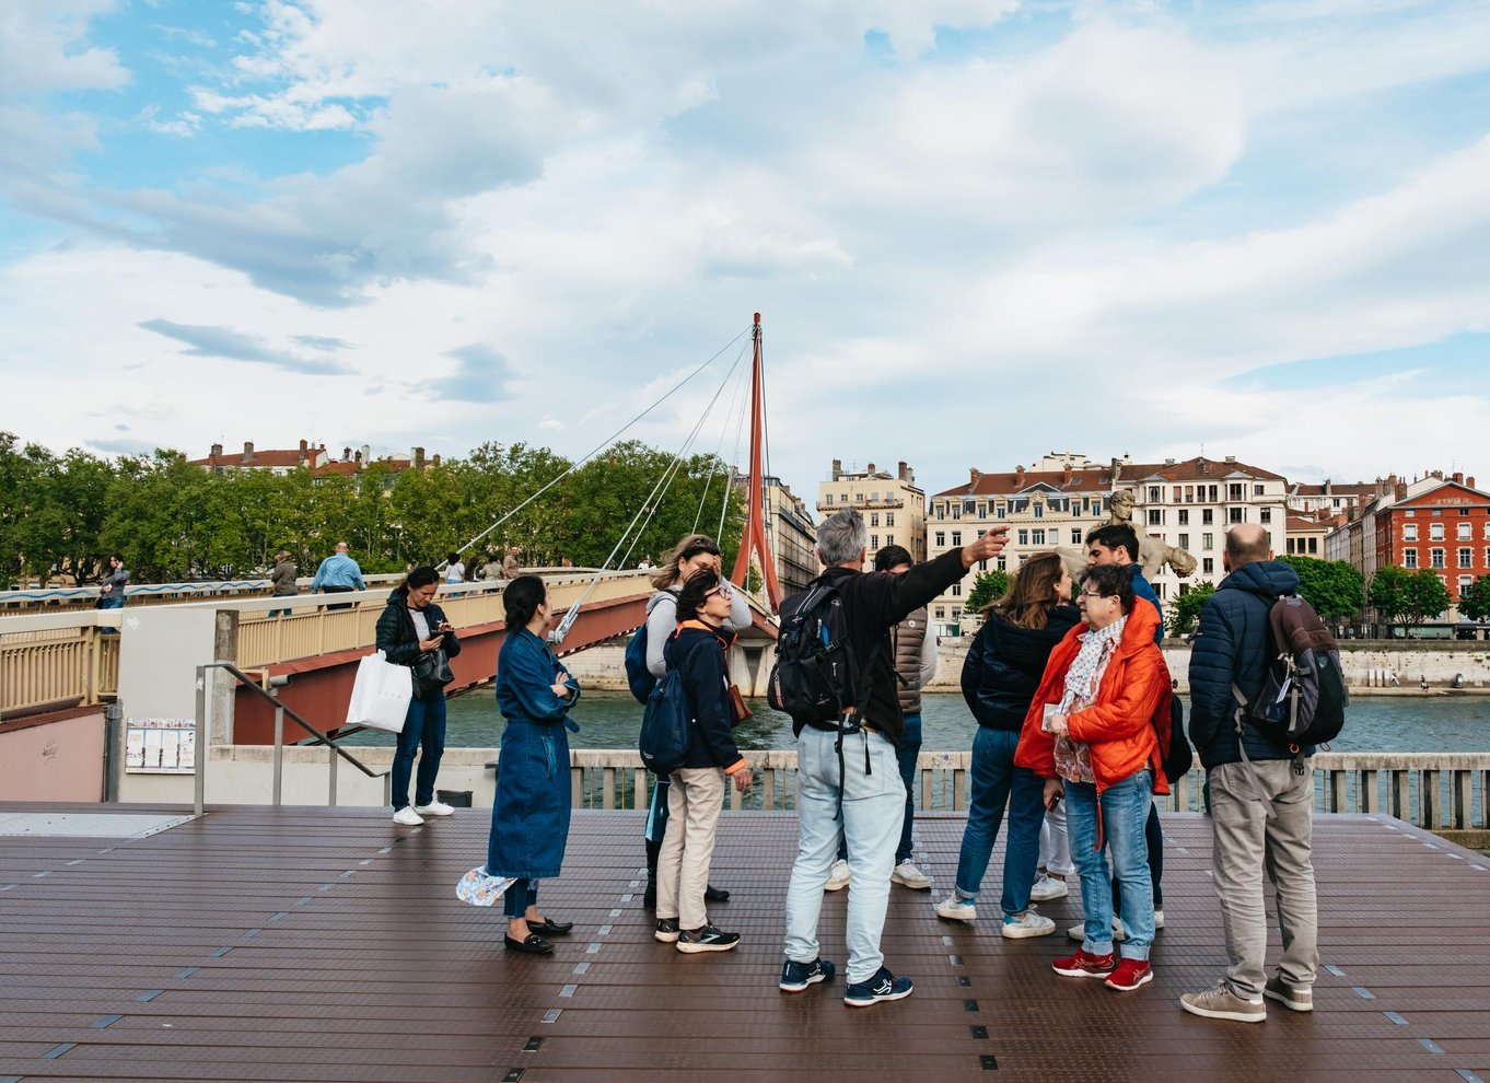
[[[1071,605],[1071,574],[1055,553],[1039,553],[1019,568],[1009,593],[989,606],[963,666],[963,697],[977,718],[973,739],[971,797],[957,860],[957,889],[939,903],[951,921],[977,918],[977,894],[1009,806],[1000,933],[1043,937],[1055,922],[1030,904],[1044,821],[1044,779],[1015,767],[1015,749],[1030,702],[1050,651],[1080,623]]]

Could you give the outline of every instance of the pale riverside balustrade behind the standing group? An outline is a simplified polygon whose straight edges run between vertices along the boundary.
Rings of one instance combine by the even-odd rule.
[[[748,794],[729,788],[730,809],[794,809],[797,754],[745,752],[755,773]],[[916,807],[967,809],[971,752],[922,752],[916,760]],[[1319,812],[1384,812],[1427,830],[1490,830],[1486,785],[1490,752],[1320,752],[1314,757]],[[580,809],[645,809],[651,776],[627,749],[574,749],[571,800]],[[1161,807],[1204,810],[1205,772],[1192,769]]]

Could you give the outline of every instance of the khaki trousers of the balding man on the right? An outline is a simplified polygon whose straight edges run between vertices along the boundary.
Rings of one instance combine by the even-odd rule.
[[[1268,947],[1268,915],[1262,873],[1272,880],[1283,933],[1278,976],[1308,989],[1319,968],[1319,909],[1314,898],[1311,836],[1314,770],[1292,760],[1228,763],[1208,773],[1211,788],[1213,864],[1231,967],[1226,983],[1237,997],[1262,1000]]]

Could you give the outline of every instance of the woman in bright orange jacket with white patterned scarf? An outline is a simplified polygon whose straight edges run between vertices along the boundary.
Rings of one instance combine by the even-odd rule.
[[[1082,627],[1050,654],[1025,715],[1015,764],[1046,779],[1046,806],[1065,798],[1071,857],[1082,877],[1086,939],[1055,973],[1100,977],[1129,992],[1153,977],[1153,883],[1144,824],[1153,794],[1167,794],[1170,670],[1153,642],[1159,620],[1134,606],[1116,566],[1091,568],[1077,594]],[[1112,854],[1112,871],[1107,867]],[[1126,940],[1113,953],[1112,880],[1122,889]]]

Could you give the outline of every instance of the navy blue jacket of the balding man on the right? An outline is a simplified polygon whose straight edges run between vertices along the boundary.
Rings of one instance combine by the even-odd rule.
[[[1191,648],[1191,743],[1205,769],[1240,763],[1237,700],[1232,681],[1250,703],[1262,691],[1272,661],[1268,614],[1278,594],[1298,591],[1299,577],[1277,560],[1243,565],[1201,608],[1199,632]],[[1289,746],[1244,727],[1252,760],[1292,758]]]

